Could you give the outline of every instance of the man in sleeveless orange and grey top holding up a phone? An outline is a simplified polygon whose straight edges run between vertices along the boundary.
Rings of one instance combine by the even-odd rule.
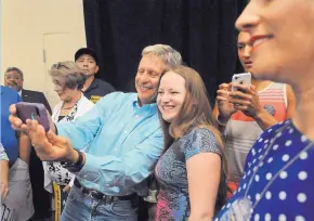
[[[245,72],[253,72],[249,46],[250,35],[239,32],[238,57]],[[243,177],[247,155],[262,132],[292,116],[296,99],[290,86],[259,80],[252,73],[252,87],[243,89],[236,96],[228,96],[231,83],[218,90],[213,115],[225,136],[230,166],[228,186],[234,192]]]

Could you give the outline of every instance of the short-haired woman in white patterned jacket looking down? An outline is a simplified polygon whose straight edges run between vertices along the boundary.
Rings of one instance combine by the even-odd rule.
[[[49,72],[54,90],[61,102],[56,104],[52,113],[52,121],[74,121],[89,112],[94,103],[89,101],[81,89],[86,82],[86,75],[74,62],[60,62]],[[44,187],[53,193],[55,200],[55,220],[60,220],[69,191],[70,180],[74,174],[61,166],[57,161],[44,161]]]

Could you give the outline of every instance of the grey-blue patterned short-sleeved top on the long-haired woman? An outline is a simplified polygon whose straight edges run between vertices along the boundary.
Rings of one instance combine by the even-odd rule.
[[[186,161],[200,153],[221,155],[213,133],[205,128],[196,128],[176,140],[158,160],[155,177],[160,184],[160,192],[156,220],[188,219],[191,208]]]

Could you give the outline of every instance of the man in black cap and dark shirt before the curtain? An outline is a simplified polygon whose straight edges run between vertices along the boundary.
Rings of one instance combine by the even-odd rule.
[[[108,82],[95,78],[100,70],[97,65],[97,55],[90,48],[81,48],[75,53],[75,62],[87,75],[87,80],[81,88],[88,100],[96,103],[104,95],[115,91],[114,87]]]

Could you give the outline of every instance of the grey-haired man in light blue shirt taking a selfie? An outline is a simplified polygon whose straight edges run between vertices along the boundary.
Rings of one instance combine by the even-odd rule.
[[[147,193],[145,180],[163,151],[155,103],[159,78],[181,63],[169,46],[146,47],[135,77],[138,93],[106,95],[78,120],[56,125],[58,135],[45,134],[37,121],[22,126],[11,107],[13,127],[29,134],[42,160],[67,161],[68,169],[77,170],[63,221],[138,220],[133,199]]]

